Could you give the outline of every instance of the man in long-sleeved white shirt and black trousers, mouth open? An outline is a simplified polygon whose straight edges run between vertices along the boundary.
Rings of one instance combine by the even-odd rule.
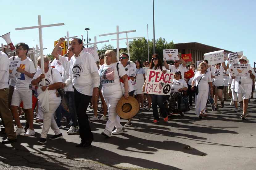
[[[75,93],[75,105],[78,118],[81,143],[76,147],[89,147],[93,141],[93,133],[89,125],[86,109],[92,97],[98,97],[100,76],[92,54],[83,51],[83,41],[73,38],[71,50],[74,56],[70,59],[69,78],[62,87],[72,83]]]

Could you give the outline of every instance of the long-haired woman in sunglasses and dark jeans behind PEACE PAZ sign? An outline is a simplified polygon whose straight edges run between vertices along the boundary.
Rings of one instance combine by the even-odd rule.
[[[154,54],[152,56],[152,59],[150,61],[150,66],[149,69],[155,69],[155,70],[159,70],[159,71],[163,71],[163,73],[166,73],[166,68],[165,66],[163,66],[162,61],[159,58],[158,54]],[[145,91],[145,85],[146,85],[147,80],[145,81],[144,85],[143,85],[143,92]],[[157,110],[157,106],[159,106],[160,111],[163,115],[163,120],[165,122],[168,122],[168,115],[167,112],[165,110],[165,106],[163,104],[163,97],[164,95],[157,95],[157,94],[150,94],[151,95],[151,99],[152,99],[152,109],[153,109],[153,116],[154,116],[154,120],[152,121],[152,123],[157,123],[159,122],[159,114],[158,114],[158,110]]]

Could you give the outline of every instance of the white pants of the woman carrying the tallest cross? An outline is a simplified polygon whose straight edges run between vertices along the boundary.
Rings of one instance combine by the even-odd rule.
[[[49,102],[49,112],[43,113],[43,130],[41,133],[42,138],[47,138],[47,133],[49,132],[50,127],[56,135],[61,133],[53,117],[53,114],[55,113],[59,105],[60,101],[55,103]]]

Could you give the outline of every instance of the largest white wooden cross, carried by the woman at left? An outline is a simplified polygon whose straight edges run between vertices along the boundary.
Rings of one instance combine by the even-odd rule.
[[[42,69],[43,74],[44,74],[44,61],[43,61],[43,36],[42,36],[42,28],[51,27],[51,26],[63,26],[63,25],[64,25],[64,23],[42,25],[41,15],[38,15],[38,26],[15,28],[15,30],[28,30],[28,29],[38,28],[38,30],[39,30],[40,57],[41,57],[41,69]],[[44,86],[45,85],[45,79],[42,80],[42,83],[43,83],[43,86]]]

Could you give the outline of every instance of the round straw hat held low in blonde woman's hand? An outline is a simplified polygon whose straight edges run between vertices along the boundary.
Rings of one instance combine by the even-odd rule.
[[[124,96],[118,101],[116,111],[119,117],[123,119],[130,119],[139,112],[138,101],[129,96],[129,99],[125,99]]]

